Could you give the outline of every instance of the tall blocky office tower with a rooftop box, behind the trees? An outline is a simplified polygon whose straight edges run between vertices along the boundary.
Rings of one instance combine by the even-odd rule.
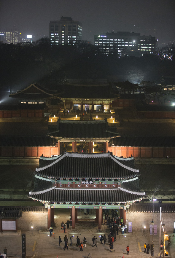
[[[49,24],[49,35],[52,44],[73,44],[82,39],[82,24],[72,20],[71,17],[61,17],[60,20],[52,20]]]

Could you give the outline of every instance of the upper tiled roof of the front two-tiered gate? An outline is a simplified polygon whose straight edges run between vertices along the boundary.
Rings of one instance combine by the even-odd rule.
[[[131,167],[121,165],[120,159],[112,154],[65,153],[51,165],[36,169],[36,174],[51,178],[131,178],[138,172]]]

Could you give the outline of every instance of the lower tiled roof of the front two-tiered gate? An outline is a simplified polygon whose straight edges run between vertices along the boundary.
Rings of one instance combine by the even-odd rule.
[[[30,198],[47,202],[86,202],[86,203],[125,203],[143,198],[143,195],[115,190],[73,190],[52,189],[47,192],[29,195]]]

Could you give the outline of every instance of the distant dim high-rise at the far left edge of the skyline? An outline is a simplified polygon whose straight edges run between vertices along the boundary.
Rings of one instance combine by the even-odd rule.
[[[14,43],[20,42],[20,33],[16,28],[0,29],[0,34],[4,34],[3,43]]]

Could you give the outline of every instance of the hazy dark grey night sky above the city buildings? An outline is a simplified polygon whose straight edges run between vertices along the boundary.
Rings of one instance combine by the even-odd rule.
[[[175,0],[0,0],[0,28],[16,26],[33,40],[49,36],[50,20],[71,16],[82,23],[82,39],[129,31],[155,36],[159,47],[174,43]]]

